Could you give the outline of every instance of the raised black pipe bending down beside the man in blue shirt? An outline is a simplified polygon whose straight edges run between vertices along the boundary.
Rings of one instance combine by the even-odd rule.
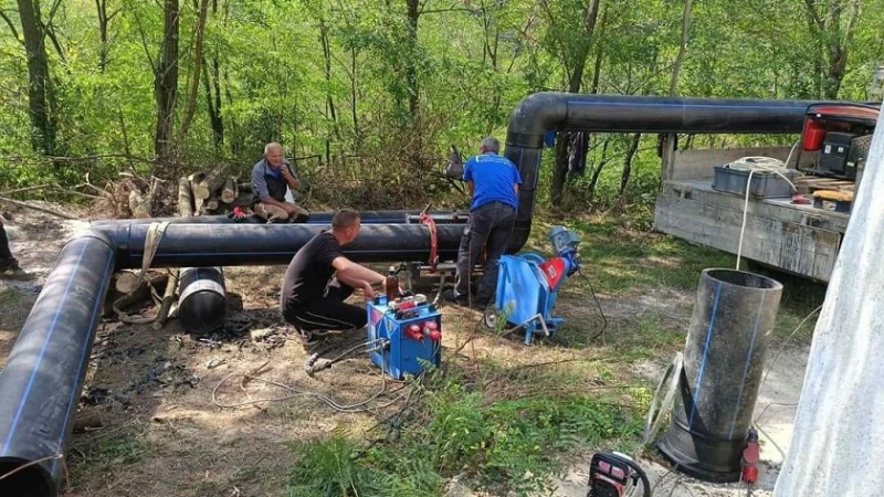
[[[629,95],[535,93],[509,116],[506,157],[522,173],[509,252],[528,241],[540,156],[547,131],[790,134],[800,133],[803,101],[672,98]]]

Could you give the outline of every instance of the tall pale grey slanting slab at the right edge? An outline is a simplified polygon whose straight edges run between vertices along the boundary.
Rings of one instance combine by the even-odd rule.
[[[884,488],[884,113],[810,349],[774,497]]]

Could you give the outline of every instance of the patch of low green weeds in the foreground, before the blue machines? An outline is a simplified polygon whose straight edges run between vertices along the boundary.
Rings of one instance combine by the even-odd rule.
[[[578,394],[490,402],[449,382],[425,392],[425,421],[389,445],[337,436],[297,446],[290,496],[442,495],[464,475],[495,495],[548,490],[559,454],[638,433],[633,413]]]

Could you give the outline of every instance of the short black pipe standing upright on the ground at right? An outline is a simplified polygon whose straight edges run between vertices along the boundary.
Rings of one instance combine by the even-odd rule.
[[[670,427],[657,447],[677,469],[737,482],[782,285],[751,273],[705,269],[691,316]]]

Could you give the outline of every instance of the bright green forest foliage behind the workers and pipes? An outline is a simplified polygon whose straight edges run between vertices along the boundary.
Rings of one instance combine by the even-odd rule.
[[[836,43],[848,55],[839,97],[865,99],[872,65],[881,59],[882,1],[862,0],[853,20],[848,0],[694,2],[677,93],[821,98],[832,84],[830,45]],[[113,13],[104,41],[98,4]],[[808,4],[824,29],[812,22]],[[565,89],[580,63],[583,92],[597,86],[603,94],[667,94],[683,3],[601,1],[596,31],[586,36],[589,2],[578,0],[430,0],[420,2],[417,19],[409,19],[404,1],[218,0],[210,2],[199,73],[194,6],[180,2],[176,163],[159,172],[219,162],[248,169],[266,141],[277,140],[303,158],[296,167],[311,173],[317,202],[413,208],[428,199],[463,205],[461,194],[435,179],[448,145],[474,152],[483,135],[505,131],[520,98]],[[72,0],[61,2],[50,22],[44,7],[42,22],[53,34],[46,52],[57,148],[93,157],[60,163],[31,150],[21,23],[15,2],[0,0],[10,21],[0,23],[0,157],[14,158],[0,163],[0,187],[81,183],[86,172],[99,183],[129,167],[119,156],[154,159],[162,8]],[[196,113],[183,130],[194,77]],[[630,210],[646,228],[659,184],[655,139],[642,138],[623,194],[629,137],[612,138],[606,158],[597,141],[589,171],[608,160],[598,184],[572,179],[561,207]],[[138,163],[141,172],[152,172],[147,163]],[[543,195],[550,169],[547,158]],[[377,184],[338,188],[356,181]]]

